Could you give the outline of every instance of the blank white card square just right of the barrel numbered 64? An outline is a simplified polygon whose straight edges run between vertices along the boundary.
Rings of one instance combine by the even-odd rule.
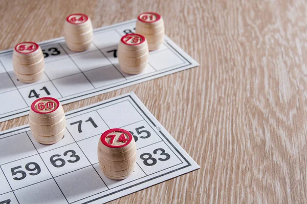
[[[93,43],[99,48],[103,49],[118,45],[121,36],[115,31],[106,31],[101,33],[95,33],[93,37]]]

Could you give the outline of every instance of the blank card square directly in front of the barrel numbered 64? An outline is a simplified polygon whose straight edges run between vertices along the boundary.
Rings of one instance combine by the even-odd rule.
[[[103,56],[99,50],[82,53],[80,55],[73,56],[72,59],[82,72],[111,65],[109,60]]]

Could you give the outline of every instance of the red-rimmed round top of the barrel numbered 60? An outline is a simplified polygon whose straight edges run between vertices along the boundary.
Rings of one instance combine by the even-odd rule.
[[[60,102],[52,97],[38,98],[31,105],[32,111],[39,114],[51,113],[58,109]]]

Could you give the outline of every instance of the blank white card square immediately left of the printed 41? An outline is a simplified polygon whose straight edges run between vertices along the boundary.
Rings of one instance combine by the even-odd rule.
[[[28,107],[17,90],[0,93],[0,98],[0,113],[9,113]]]

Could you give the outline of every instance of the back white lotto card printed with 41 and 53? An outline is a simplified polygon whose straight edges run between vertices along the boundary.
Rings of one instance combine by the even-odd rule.
[[[149,52],[148,65],[137,75],[119,68],[117,47],[120,38],[134,32],[136,20],[94,30],[89,50],[72,52],[64,38],[39,43],[45,56],[42,79],[24,84],[13,71],[12,50],[0,52],[0,122],[29,114],[38,97],[57,98],[62,105],[113,91],[143,81],[198,66],[167,36],[159,50]]]

